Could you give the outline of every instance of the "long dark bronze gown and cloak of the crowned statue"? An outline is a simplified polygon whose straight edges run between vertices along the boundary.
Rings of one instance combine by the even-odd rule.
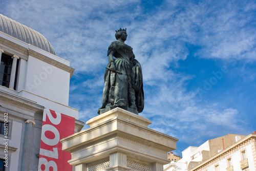
[[[144,92],[140,63],[134,59],[132,47],[121,41],[113,41],[109,46],[108,55],[114,51],[116,70],[122,74],[106,69],[102,106],[98,114],[110,111],[111,107],[120,107],[138,113],[144,108]],[[109,62],[107,67],[110,67]]]

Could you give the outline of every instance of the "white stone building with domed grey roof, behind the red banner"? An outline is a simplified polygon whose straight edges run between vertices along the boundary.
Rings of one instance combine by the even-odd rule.
[[[75,132],[83,127],[69,106],[74,69],[44,36],[2,14],[0,59],[0,170],[37,170],[44,109],[74,117]]]

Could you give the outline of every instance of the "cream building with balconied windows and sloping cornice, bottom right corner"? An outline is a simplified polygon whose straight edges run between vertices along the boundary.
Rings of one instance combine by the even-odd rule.
[[[237,141],[223,151],[189,169],[191,171],[255,171],[256,133]]]

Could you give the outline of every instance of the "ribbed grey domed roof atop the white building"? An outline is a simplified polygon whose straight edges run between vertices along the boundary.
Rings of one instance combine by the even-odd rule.
[[[2,14],[0,14],[0,31],[56,55],[52,45],[45,36]]]

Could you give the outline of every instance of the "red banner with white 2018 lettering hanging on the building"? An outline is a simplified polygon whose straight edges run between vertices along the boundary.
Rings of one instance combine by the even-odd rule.
[[[61,150],[62,138],[74,134],[75,118],[45,109],[42,118],[42,134],[39,156],[39,171],[72,171],[68,163],[71,154]]]

